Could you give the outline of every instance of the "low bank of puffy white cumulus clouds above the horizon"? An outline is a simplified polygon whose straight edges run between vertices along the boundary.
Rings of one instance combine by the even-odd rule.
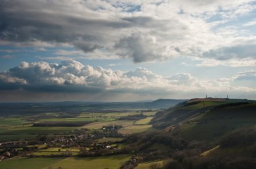
[[[223,93],[240,95],[241,93],[255,92],[256,86],[253,83],[255,79],[255,70],[216,80],[199,80],[189,73],[164,77],[146,68],[136,68],[128,72],[114,71],[100,66],[83,65],[75,60],[66,60],[61,64],[22,62],[19,66],[0,72],[0,91],[5,93],[5,98],[8,96],[6,93],[14,91],[16,93],[20,91],[23,93],[51,93],[51,95],[70,93],[79,98],[83,98],[83,95],[85,98],[88,95],[97,95],[109,99],[111,95],[113,96],[111,101],[117,101],[119,99],[119,97],[115,97],[117,95],[133,95],[137,97],[137,100],[143,97],[179,96],[179,98],[185,98],[190,94],[202,97],[205,93],[222,96]],[[244,80],[247,80],[247,83],[243,83]],[[24,95],[14,96],[26,98]],[[67,97],[66,99],[70,100],[71,98]]]

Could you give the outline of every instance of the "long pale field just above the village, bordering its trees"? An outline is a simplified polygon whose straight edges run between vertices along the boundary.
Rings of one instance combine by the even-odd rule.
[[[115,121],[108,121],[108,122],[95,122],[85,125],[87,129],[101,129],[103,126],[107,125],[122,125],[123,127],[133,125],[134,121],[131,120],[115,120]]]

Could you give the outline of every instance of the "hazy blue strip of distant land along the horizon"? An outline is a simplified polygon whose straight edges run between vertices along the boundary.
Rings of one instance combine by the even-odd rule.
[[[19,115],[26,112],[47,113],[79,113],[79,112],[113,112],[126,111],[131,109],[166,109],[173,107],[187,100],[175,99],[158,99],[156,101],[139,101],[139,102],[82,102],[82,101],[65,101],[49,103],[0,103],[0,115]]]

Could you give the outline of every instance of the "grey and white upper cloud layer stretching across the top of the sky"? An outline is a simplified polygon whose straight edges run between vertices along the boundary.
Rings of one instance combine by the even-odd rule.
[[[224,25],[255,8],[254,0],[3,0],[0,44],[73,46],[88,58],[114,55],[133,62],[255,60],[255,34]]]

